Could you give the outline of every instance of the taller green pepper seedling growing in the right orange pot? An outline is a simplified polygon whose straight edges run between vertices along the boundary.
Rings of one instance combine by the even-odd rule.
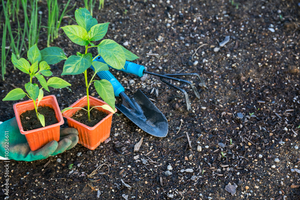
[[[84,74],[88,104],[87,110],[84,110],[88,112],[88,121],[90,122],[90,111],[95,107],[102,107],[103,109],[115,113],[115,95],[113,86],[109,81],[105,79],[93,80],[96,73],[108,70],[108,65],[118,70],[122,69],[125,65],[126,60],[132,61],[139,57],[110,39],[102,40],[98,45],[92,43],[92,41],[99,41],[105,36],[109,23],[98,24],[97,19],[93,18],[91,16],[91,13],[86,8],[79,8],[78,10],[76,10],[75,19],[78,25],[68,25],[61,28],[64,30],[64,33],[72,42],[80,46],[85,46],[85,52],[84,54],[77,52],[76,55],[71,55],[69,58],[67,58],[64,63],[64,68],[61,75],[76,75],[80,73]],[[98,55],[96,55],[95,58],[100,55],[108,65],[99,61],[94,61],[95,58],[92,58],[92,54],[88,53],[89,48],[97,48]],[[91,80],[88,82],[87,69],[91,65],[93,65],[95,73],[92,76]],[[88,88],[92,82],[94,82],[94,87],[99,96],[109,106],[105,104],[103,106],[95,106],[90,108]],[[73,108],[68,107],[63,109],[61,112],[69,109]]]

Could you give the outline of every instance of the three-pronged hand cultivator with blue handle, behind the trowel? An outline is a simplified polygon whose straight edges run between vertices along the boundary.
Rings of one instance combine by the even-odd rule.
[[[103,58],[101,58],[100,56],[98,58],[96,58],[95,60],[98,60],[100,62],[105,63],[105,61],[103,60]],[[178,82],[190,85],[190,87],[192,88],[194,94],[196,95],[196,97],[198,99],[200,98],[200,95],[199,95],[196,87],[193,85],[192,82],[187,81],[187,80],[183,80],[183,79],[174,78],[173,76],[196,76],[196,77],[198,77],[198,79],[202,83],[202,87],[207,88],[206,85],[205,85],[205,82],[199,76],[198,73],[180,73],[180,74],[166,74],[166,75],[161,75],[161,74],[157,74],[157,73],[148,72],[148,71],[146,71],[146,69],[145,69],[145,67],[143,65],[135,64],[135,63],[129,62],[129,61],[126,61],[124,69],[121,69],[121,71],[124,71],[126,73],[132,73],[132,74],[135,74],[135,75],[140,76],[140,77],[142,77],[145,73],[153,75],[153,76],[160,77],[160,79],[161,79],[162,82],[164,82],[167,85],[169,85],[169,86],[171,86],[171,87],[173,87],[173,88],[181,91],[184,94],[184,97],[185,97],[185,100],[186,100],[186,103],[187,103],[187,110],[188,111],[191,110],[191,106],[190,106],[190,100],[189,100],[189,98],[187,96],[187,92],[184,89],[179,88],[176,85],[173,85],[172,83],[168,82],[166,79],[170,79],[170,80],[174,80],[174,81],[178,81]]]

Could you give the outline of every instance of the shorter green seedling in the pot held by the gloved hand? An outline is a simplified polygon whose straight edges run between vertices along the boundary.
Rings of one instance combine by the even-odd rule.
[[[53,48],[57,48],[56,50]],[[48,64],[55,64],[55,61],[60,60],[60,58],[57,58],[55,55],[50,55],[51,53],[53,54],[53,51],[55,50],[58,51],[56,52],[57,54],[59,52],[62,52],[62,49],[58,47],[48,47],[40,51],[35,44],[32,46],[28,52],[27,52],[27,58],[29,61],[27,61],[25,58],[20,58],[19,60],[16,58],[16,55],[12,53],[11,56],[11,61],[13,65],[21,70],[22,72],[29,74],[30,76],[30,81],[25,84],[25,89],[27,91],[24,92],[21,88],[16,88],[10,91],[6,97],[4,97],[3,101],[10,101],[10,100],[20,100],[24,98],[26,95],[29,97],[29,99],[32,99],[34,106],[35,106],[35,112],[38,118],[38,121],[41,122],[42,126],[45,126],[45,119],[44,115],[38,112],[38,104],[44,97],[44,92],[43,88],[49,92],[48,87],[52,88],[65,88],[67,86],[70,86],[71,84],[64,81],[61,78],[58,77],[51,77],[49,80],[46,82],[46,79],[44,76],[51,76],[52,72],[50,71],[50,66]],[[52,50],[52,51],[51,51]],[[65,55],[60,55],[61,57]],[[51,59],[52,58],[52,59]],[[48,60],[52,60],[51,63],[47,63]],[[57,62],[56,62],[57,63]],[[37,83],[32,83],[32,78],[37,78],[38,81],[40,82],[40,85],[42,86],[39,88],[39,85]],[[38,103],[36,103],[38,101]]]

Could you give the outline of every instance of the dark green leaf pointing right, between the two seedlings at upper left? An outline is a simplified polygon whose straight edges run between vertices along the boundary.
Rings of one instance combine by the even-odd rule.
[[[41,60],[46,61],[48,64],[56,64],[67,59],[67,56],[64,55],[64,51],[56,46],[47,47],[41,50],[41,56]]]

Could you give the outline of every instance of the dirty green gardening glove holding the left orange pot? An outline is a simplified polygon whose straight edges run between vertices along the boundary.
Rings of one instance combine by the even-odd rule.
[[[5,149],[5,145],[7,145],[5,131],[9,133],[7,134],[8,155],[7,149]],[[78,131],[75,128],[61,128],[59,142],[53,140],[44,147],[36,151],[31,151],[25,136],[20,133],[16,118],[4,121],[3,123],[0,122],[0,157],[3,160],[12,159],[28,162],[42,160],[73,148],[77,142]]]

